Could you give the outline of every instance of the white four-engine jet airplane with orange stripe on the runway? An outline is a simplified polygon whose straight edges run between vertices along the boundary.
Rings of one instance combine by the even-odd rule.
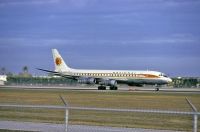
[[[110,90],[117,90],[117,84],[127,84],[129,86],[164,85],[172,82],[166,74],[158,71],[139,71],[139,70],[83,70],[70,68],[57,49],[52,49],[55,70],[46,70],[37,68],[38,70],[53,73],[56,76],[77,80],[83,84],[98,84],[98,90],[106,90],[109,86]],[[159,91],[159,87],[155,88]]]

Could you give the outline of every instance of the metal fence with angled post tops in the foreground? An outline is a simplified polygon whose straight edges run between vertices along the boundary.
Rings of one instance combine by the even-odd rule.
[[[65,132],[68,132],[68,120],[69,120],[69,110],[78,110],[78,111],[95,111],[95,112],[117,112],[117,113],[147,113],[147,114],[166,114],[166,115],[178,115],[178,116],[190,116],[192,117],[191,124],[193,125],[192,131],[197,132],[198,131],[198,116],[200,115],[200,112],[197,111],[195,106],[191,103],[190,100],[187,100],[188,104],[193,109],[192,112],[185,112],[185,111],[169,111],[169,110],[151,110],[151,109],[112,109],[112,108],[91,108],[91,107],[70,107],[67,105],[65,100],[61,97],[61,100],[64,103],[64,106],[54,106],[54,105],[10,105],[10,104],[0,104],[0,108],[34,108],[34,109],[61,109],[64,110],[64,130]],[[87,115],[90,116],[90,115]],[[0,128],[1,129],[1,128]]]

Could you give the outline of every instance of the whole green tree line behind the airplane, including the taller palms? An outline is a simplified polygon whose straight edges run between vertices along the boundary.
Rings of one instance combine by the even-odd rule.
[[[7,85],[75,85],[75,80],[53,77],[53,74],[48,74],[46,77],[33,77],[29,73],[28,66],[22,67],[22,72],[13,74],[6,70],[5,67],[0,68],[1,75],[7,75]],[[172,78],[172,87],[200,87],[200,77],[187,77],[187,78]]]

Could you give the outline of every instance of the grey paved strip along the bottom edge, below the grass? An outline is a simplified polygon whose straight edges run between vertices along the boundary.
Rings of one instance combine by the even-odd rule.
[[[65,130],[65,126],[64,124],[0,121],[0,130],[1,129],[21,131],[63,132]],[[69,132],[174,132],[170,130],[119,128],[87,125],[69,125],[67,130]]]

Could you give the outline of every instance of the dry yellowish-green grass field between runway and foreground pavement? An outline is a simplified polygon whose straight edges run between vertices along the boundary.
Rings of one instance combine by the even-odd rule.
[[[185,100],[185,97],[187,97],[198,110],[200,109],[199,94],[160,92],[0,89],[0,103],[63,105],[59,95],[62,95],[70,106],[192,111]],[[0,108],[0,119],[64,123],[64,111]],[[192,117],[165,114],[71,110],[69,122],[70,124],[192,130]]]

